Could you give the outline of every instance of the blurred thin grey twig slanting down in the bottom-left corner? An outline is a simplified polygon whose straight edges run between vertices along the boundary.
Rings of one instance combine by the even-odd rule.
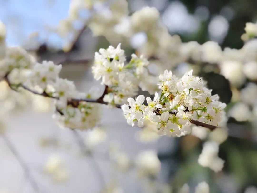
[[[39,186],[35,179],[31,176],[30,169],[26,165],[25,161],[22,159],[22,157],[19,155],[18,151],[16,150],[15,146],[12,144],[10,139],[5,135],[1,134],[2,138],[4,139],[4,142],[8,146],[8,148],[11,150],[17,161],[19,162],[20,166],[22,167],[27,179],[29,180],[31,187],[34,189],[35,192],[39,192]]]

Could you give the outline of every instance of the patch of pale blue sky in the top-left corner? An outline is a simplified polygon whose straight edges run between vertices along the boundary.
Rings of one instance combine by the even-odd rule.
[[[43,37],[68,14],[70,0],[0,0],[0,20],[7,28],[7,44],[21,45],[32,32]]]

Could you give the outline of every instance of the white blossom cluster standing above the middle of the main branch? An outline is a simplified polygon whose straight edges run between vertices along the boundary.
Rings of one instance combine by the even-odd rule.
[[[108,86],[108,94],[104,101],[114,104],[124,103],[128,97],[135,96],[141,87],[142,90],[153,92],[152,88],[141,86],[141,80],[145,80],[149,75],[149,62],[142,55],[137,57],[132,54],[128,64],[121,44],[114,48],[100,49],[95,53],[95,63],[93,74],[96,80],[101,79],[102,84]]]

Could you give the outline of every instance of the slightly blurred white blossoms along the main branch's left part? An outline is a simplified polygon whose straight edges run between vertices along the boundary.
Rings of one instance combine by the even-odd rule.
[[[0,24],[0,43],[5,37]],[[1,52],[2,53],[2,52]],[[92,93],[79,93],[72,81],[59,77],[62,65],[51,61],[36,63],[36,60],[21,47],[7,47],[0,60],[0,79],[8,80],[9,86],[20,87],[33,93],[55,99],[53,118],[62,127],[70,129],[93,128],[99,122],[99,104],[83,101]],[[76,100],[79,98],[81,100]],[[72,99],[75,99],[72,101]]]

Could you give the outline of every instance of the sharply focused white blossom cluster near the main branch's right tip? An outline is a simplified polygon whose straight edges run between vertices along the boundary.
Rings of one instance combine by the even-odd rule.
[[[218,95],[211,95],[201,78],[192,75],[192,70],[182,78],[177,78],[171,71],[164,71],[159,76],[160,98],[155,93],[150,97],[139,95],[136,100],[128,98],[122,106],[128,124],[143,127],[145,120],[157,122],[157,129],[162,135],[180,136],[188,133],[191,119],[207,124],[218,125],[225,115],[226,104],[219,102]]]

